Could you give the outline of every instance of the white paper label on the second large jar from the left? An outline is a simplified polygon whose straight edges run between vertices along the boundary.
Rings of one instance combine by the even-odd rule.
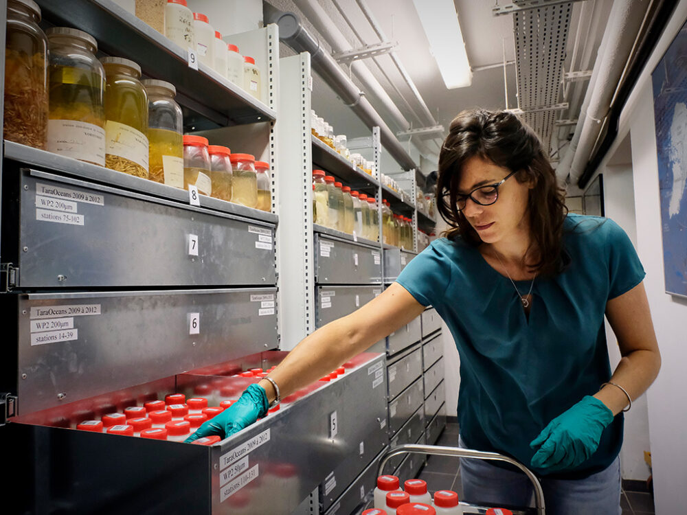
[[[105,130],[71,119],[49,119],[47,151],[104,166]]]

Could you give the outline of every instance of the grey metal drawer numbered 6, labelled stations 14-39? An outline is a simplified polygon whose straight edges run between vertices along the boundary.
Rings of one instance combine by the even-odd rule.
[[[278,347],[276,288],[3,295],[21,413]],[[271,308],[262,308],[267,304]],[[18,331],[18,334],[17,332]],[[135,363],[135,366],[132,366]]]

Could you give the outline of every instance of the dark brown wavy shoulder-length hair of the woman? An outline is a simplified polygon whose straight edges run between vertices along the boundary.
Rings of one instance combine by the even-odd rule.
[[[451,122],[439,154],[437,178],[437,209],[449,225],[444,236],[449,240],[461,237],[474,247],[482,243],[455,200],[462,165],[473,156],[517,172],[514,178],[519,183],[534,184],[529,192],[528,215],[539,262],[532,265],[532,271],[538,275],[561,272],[565,261],[565,192],[534,130],[509,111],[462,111]]]

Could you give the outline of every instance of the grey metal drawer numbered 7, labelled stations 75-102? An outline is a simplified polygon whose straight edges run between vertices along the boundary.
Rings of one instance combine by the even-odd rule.
[[[16,287],[276,284],[267,222],[36,170],[19,185]]]

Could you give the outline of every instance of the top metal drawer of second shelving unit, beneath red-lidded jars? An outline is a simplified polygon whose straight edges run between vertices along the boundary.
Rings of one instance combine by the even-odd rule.
[[[381,283],[381,273],[379,249],[315,233],[315,281],[317,283]]]

